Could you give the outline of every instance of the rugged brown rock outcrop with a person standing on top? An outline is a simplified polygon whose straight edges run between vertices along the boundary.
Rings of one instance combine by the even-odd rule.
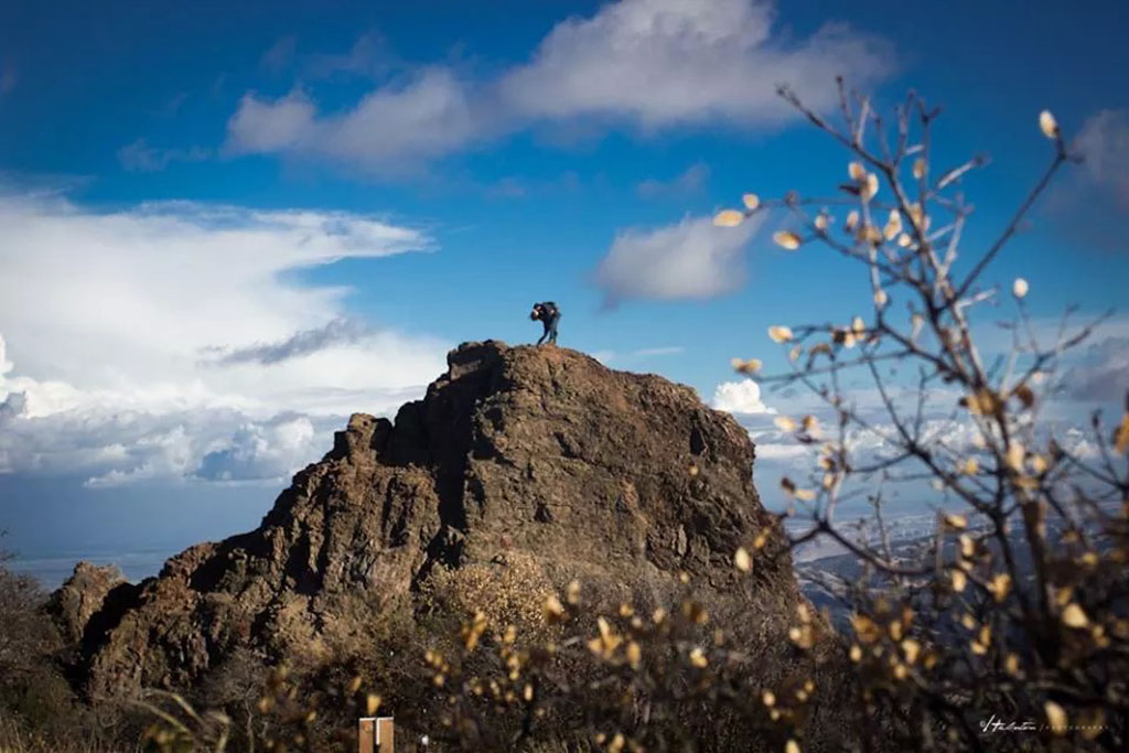
[[[772,526],[752,482],[753,446],[689,388],[613,371],[581,353],[487,341],[395,421],[356,414],[298,473],[262,525],[122,585],[80,566],[54,597],[80,641],[91,697],[184,686],[240,647],[316,653],[348,632],[350,602],[412,598],[436,568],[535,563],[546,583],[597,580],[633,596],[686,572],[763,624],[799,598],[787,559],[732,566]]]

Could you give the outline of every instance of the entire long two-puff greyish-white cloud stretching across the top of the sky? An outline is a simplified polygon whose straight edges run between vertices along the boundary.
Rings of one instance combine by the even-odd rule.
[[[648,131],[776,124],[795,116],[777,85],[824,107],[837,75],[865,87],[891,67],[889,45],[842,24],[793,38],[767,1],[620,0],[561,21],[527,63],[492,79],[428,65],[333,113],[300,88],[277,99],[248,93],[228,123],[227,148],[388,168],[578,119]]]

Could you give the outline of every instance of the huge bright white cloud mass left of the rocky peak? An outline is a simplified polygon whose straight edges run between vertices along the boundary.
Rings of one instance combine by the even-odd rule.
[[[286,273],[430,247],[342,212],[0,196],[0,473],[274,478],[315,459],[343,415],[418,394],[446,343],[347,324],[345,289]]]

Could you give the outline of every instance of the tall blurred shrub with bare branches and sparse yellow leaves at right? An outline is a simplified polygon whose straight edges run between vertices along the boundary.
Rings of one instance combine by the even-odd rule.
[[[743,214],[785,209],[793,229],[777,234],[780,246],[850,259],[869,287],[863,315],[771,327],[791,368],[763,379],[805,387],[831,417],[826,427],[815,415],[778,420],[813,459],[806,479],[781,484],[795,501],[789,515],[808,520],[794,545],[831,539],[864,566],[854,583],[831,584],[852,614],[858,711],[882,721],[860,727],[855,744],[1123,750],[1129,404],[1113,427],[1093,415],[1085,441],[1047,419],[1064,358],[1096,323],[1064,316],[1042,335],[1025,280],[1006,292],[983,280],[1073,160],[1067,142],[1043,112],[1045,170],[995,240],[966,254],[972,207],[960,180],[986,160],[934,165],[939,110],[913,94],[887,123],[868,99],[840,91],[840,125],[780,91],[851,155],[840,195],[788,195]],[[718,224],[733,220],[723,212]],[[991,304],[1015,312],[1012,344],[995,358],[973,326]],[[876,405],[863,404],[859,382]],[[933,542],[891,543],[883,509],[899,490],[933,501]],[[837,517],[851,499],[873,510],[861,534]]]

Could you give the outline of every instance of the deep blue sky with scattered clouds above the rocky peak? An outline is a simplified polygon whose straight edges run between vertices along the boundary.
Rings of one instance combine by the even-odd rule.
[[[535,339],[533,300],[561,344],[707,400],[735,354],[779,366],[768,325],[867,300],[859,270],[772,246],[781,217],[709,227],[844,175],[778,82],[942,105],[940,156],[992,159],[970,245],[1050,158],[1051,108],[1087,163],[990,281],[1025,277],[1048,319],[1118,306],[1127,27],[1119,2],[8,3],[0,527],[40,550],[76,506],[123,548],[250,525],[351,410],[420,394],[461,341]]]

